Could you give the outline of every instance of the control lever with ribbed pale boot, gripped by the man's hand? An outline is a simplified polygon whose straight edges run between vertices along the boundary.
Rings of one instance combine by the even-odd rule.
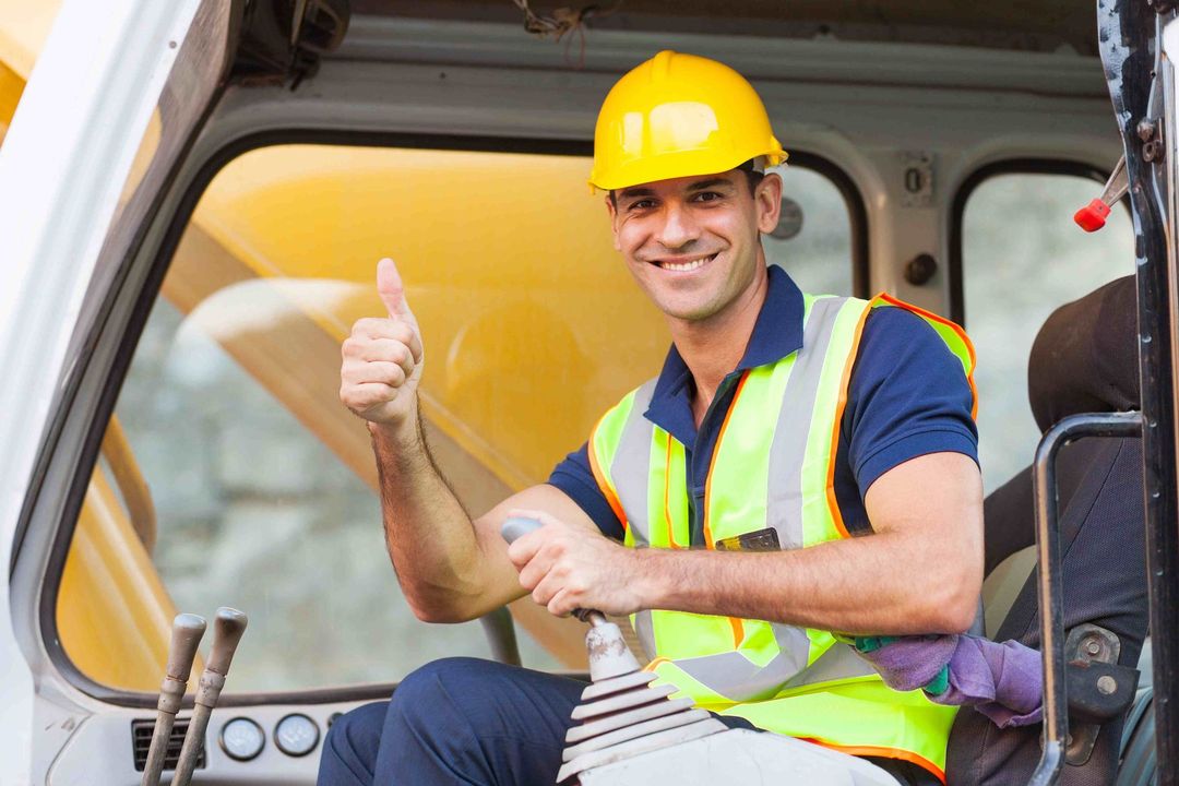
[[[513,543],[541,526],[512,517],[500,527],[500,535]],[[690,698],[671,699],[674,686],[651,687],[657,675],[639,668],[623,632],[605,614],[597,609],[573,614],[590,623],[586,649],[592,685],[573,708],[573,720],[580,724],[565,735],[558,784],[574,784],[594,767],[725,731],[706,711],[693,708]]]

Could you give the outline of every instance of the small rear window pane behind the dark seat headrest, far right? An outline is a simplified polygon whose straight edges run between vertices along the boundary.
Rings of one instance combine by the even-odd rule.
[[[1040,430],[1028,404],[1036,332],[1058,306],[1134,272],[1129,216],[1082,232],[1072,216],[1101,191],[1088,178],[1003,174],[970,193],[963,214],[967,331],[977,350],[979,453],[992,491],[1032,463]]]

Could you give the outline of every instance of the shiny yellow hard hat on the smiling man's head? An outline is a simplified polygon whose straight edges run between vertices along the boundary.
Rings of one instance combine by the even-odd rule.
[[[598,113],[590,186],[727,172],[786,159],[753,86],[716,60],[664,51],[618,80]]]

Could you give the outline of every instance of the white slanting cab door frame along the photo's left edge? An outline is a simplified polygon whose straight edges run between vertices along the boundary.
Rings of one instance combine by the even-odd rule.
[[[77,438],[107,391],[91,363],[126,322],[107,295],[144,243],[174,166],[228,73],[231,0],[70,2],[0,148],[0,782],[119,782],[104,771],[106,707],[65,680],[39,632]],[[106,357],[104,357],[106,355]],[[68,755],[67,755],[68,754]]]

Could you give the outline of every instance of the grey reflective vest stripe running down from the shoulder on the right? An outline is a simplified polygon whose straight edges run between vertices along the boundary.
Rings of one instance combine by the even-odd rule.
[[[803,458],[809,435],[799,424],[810,423],[835,318],[847,302],[845,297],[823,297],[812,303],[803,331],[803,346],[795,357],[782,396],[770,444],[765,517],[766,524],[778,531],[783,549],[803,546]]]

